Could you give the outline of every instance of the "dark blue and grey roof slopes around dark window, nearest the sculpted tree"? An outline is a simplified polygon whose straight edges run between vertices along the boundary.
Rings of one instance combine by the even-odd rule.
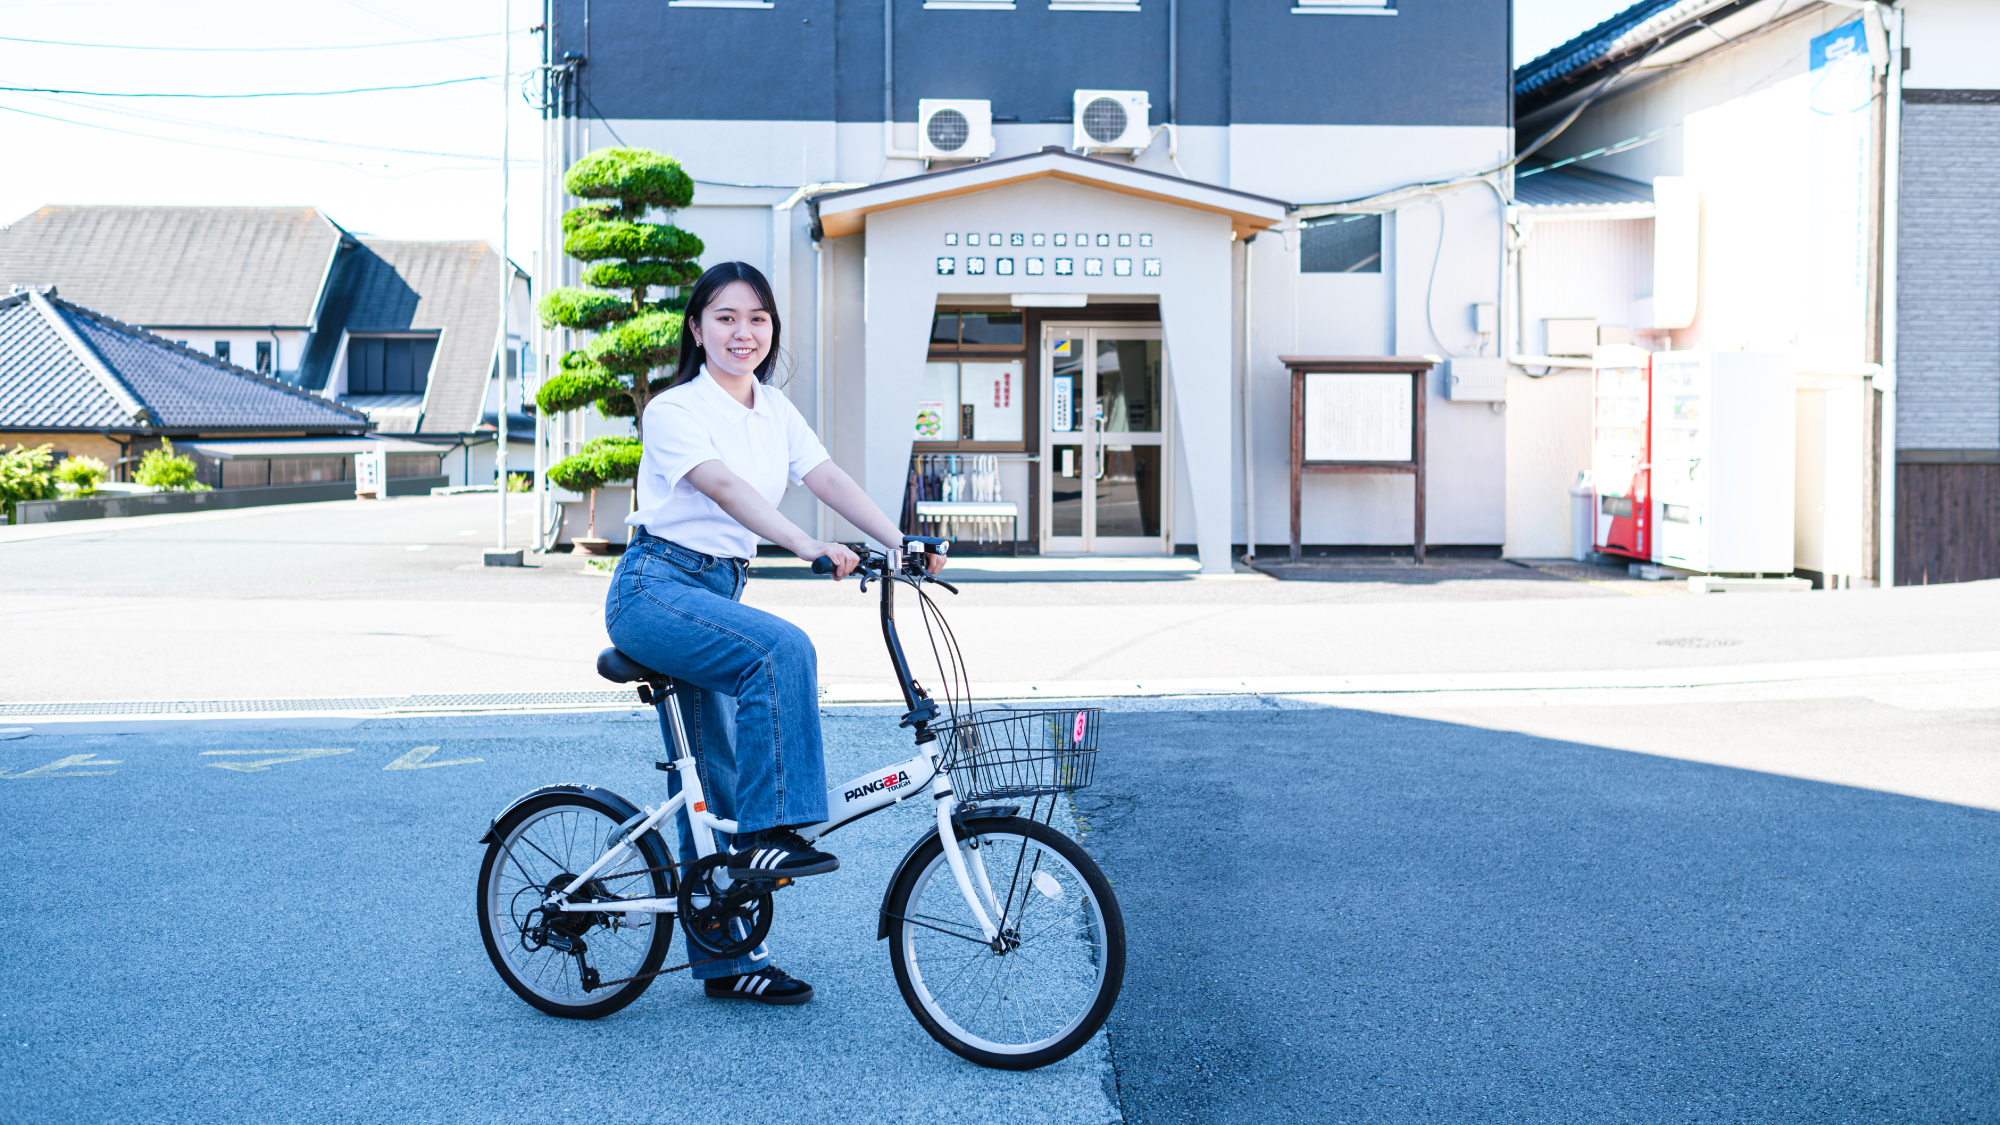
[[[416,432],[472,432],[500,336],[500,254],[486,242],[366,238],[340,256],[328,286],[320,334],[304,364],[308,390],[328,386],[342,330],[438,332]]]

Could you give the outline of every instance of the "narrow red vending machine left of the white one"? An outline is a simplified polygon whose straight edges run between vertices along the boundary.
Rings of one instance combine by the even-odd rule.
[[[1604,346],[1592,356],[1590,474],[1598,486],[1596,534],[1606,554],[1652,560],[1652,354]]]

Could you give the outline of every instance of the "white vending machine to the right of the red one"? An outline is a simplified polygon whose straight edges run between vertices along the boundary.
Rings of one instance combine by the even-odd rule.
[[[1786,352],[1652,356],[1654,558],[1790,575],[1798,392]]]

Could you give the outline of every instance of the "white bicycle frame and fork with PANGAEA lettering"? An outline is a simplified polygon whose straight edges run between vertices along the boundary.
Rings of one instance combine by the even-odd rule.
[[[638,849],[632,845],[634,839],[654,831],[662,821],[688,809],[688,827],[694,835],[696,857],[710,857],[716,853],[716,833],[736,833],[736,821],[724,821],[708,811],[708,799],[702,795],[702,779],[696,769],[694,755],[688,751],[688,731],[680,719],[680,699],[668,691],[662,693],[660,701],[664,713],[666,735],[674,743],[674,761],[668,769],[680,775],[680,793],[672,801],[666,801],[658,809],[644,811],[644,819],[638,827],[630,823],[620,825],[612,847],[598,857],[582,875],[572,879],[568,887],[586,887],[598,877],[608,865],[618,863],[626,855],[636,855]],[[808,841],[818,841],[826,833],[832,833],[840,825],[850,825],[868,813],[888,809],[916,797],[924,785],[930,785],[932,801],[938,809],[938,839],[956,841],[952,833],[952,813],[958,809],[958,799],[952,795],[950,775],[944,771],[942,755],[938,753],[938,743],[924,743],[918,755],[894,769],[866,773],[848,781],[838,789],[826,791],[828,819],[800,829],[798,835]],[[1000,927],[994,919],[1004,917],[1000,903],[994,899],[992,883],[986,879],[986,865],[974,851],[968,863],[964,845],[946,847],[944,861],[952,869],[952,879],[958,881],[958,893],[966,897],[966,905],[972,907],[972,917],[978,919],[980,931],[986,941],[992,943],[1000,937]],[[676,857],[686,861],[688,857]],[[728,873],[716,871],[714,875],[718,887],[728,885]],[[974,887],[976,883],[976,887]],[[570,903],[568,889],[558,891],[542,901],[548,911],[574,911],[574,913],[626,913],[626,915],[672,915],[680,911],[674,899],[624,899],[618,903]],[[616,909],[606,909],[616,907]],[[990,907],[990,911],[988,911]]]

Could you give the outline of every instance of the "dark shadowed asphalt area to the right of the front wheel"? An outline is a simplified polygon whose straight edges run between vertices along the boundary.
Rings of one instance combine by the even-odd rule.
[[[1360,711],[1118,713],[1126,1121],[2000,1113],[2000,815]]]

